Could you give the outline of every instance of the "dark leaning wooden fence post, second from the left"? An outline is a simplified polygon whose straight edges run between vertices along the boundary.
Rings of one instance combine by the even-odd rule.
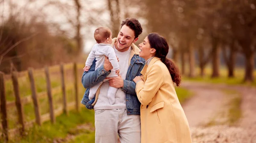
[[[13,84],[13,89],[14,89],[14,93],[15,93],[15,104],[16,104],[17,112],[18,112],[18,120],[21,125],[20,135],[23,135],[24,131],[25,131],[24,112],[23,112],[23,104],[21,103],[21,99],[20,99],[20,91],[19,91],[17,72],[12,72],[12,84]]]

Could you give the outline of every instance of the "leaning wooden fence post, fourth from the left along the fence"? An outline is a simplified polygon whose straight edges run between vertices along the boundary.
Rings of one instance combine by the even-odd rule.
[[[49,101],[50,118],[51,118],[51,122],[55,123],[56,120],[54,116],[54,108],[52,105],[52,87],[51,87],[51,80],[49,76],[48,67],[45,67],[45,76],[46,76],[46,83],[47,83],[47,95],[48,95],[48,101]]]

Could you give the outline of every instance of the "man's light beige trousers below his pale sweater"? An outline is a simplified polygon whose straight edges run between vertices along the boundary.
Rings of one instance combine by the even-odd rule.
[[[95,143],[140,143],[140,115],[126,109],[95,110],[95,129]]]

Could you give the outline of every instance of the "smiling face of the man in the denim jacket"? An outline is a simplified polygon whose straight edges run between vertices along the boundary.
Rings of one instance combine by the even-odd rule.
[[[132,43],[135,43],[139,38],[135,38],[134,31],[126,25],[123,25],[117,36],[116,50],[119,52],[127,51]]]

